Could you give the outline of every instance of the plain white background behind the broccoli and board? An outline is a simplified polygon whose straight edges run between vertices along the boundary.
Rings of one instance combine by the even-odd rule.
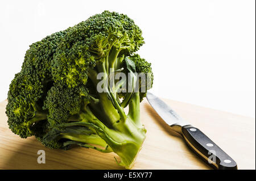
[[[163,98],[255,117],[255,1],[1,1],[0,100],[28,45],[104,10],[143,31]]]

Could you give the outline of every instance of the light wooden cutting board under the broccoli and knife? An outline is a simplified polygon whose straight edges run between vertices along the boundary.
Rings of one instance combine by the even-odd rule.
[[[238,169],[255,169],[255,119],[164,101],[226,151]],[[86,148],[51,150],[34,137],[20,138],[8,128],[6,104],[7,101],[0,103],[0,169],[123,169],[115,163],[114,153]],[[141,119],[147,137],[133,169],[210,169],[189,150],[179,134],[164,124],[146,99],[141,104]],[[45,150],[46,163],[37,162],[38,150]]]

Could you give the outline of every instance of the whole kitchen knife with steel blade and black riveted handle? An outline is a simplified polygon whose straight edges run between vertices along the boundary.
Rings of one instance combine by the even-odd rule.
[[[147,100],[158,115],[177,133],[188,147],[213,169],[237,170],[237,163],[198,128],[181,119],[177,113],[154,94],[147,92]]]

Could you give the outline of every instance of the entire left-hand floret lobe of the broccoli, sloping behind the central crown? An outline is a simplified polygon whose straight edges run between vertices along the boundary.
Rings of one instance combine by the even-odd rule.
[[[11,131],[26,138],[35,135],[34,123],[47,119],[42,109],[47,91],[52,86],[51,61],[66,31],[47,36],[30,45],[22,70],[15,75],[8,92],[6,114]]]

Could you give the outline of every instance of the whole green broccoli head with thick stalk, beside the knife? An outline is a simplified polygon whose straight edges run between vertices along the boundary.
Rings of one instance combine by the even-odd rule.
[[[132,19],[109,11],[32,44],[10,84],[9,128],[50,149],[114,151],[130,169],[146,134],[140,103],[154,79],[135,53],[143,44]],[[114,79],[119,73],[126,77]]]

